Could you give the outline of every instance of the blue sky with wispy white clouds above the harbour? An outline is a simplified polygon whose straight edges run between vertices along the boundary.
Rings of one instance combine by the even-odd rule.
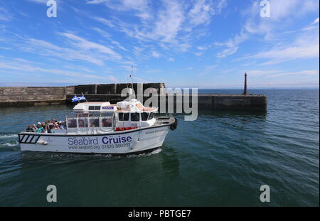
[[[319,87],[319,1],[0,0],[0,86]]]

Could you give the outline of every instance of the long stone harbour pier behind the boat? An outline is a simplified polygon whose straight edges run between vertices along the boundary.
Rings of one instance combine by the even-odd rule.
[[[131,85],[131,84],[130,84]],[[137,92],[137,84],[133,84]],[[153,88],[158,92],[158,104],[160,99],[168,100],[168,95],[161,95],[161,88],[164,83],[144,84],[143,90]],[[20,107],[27,105],[49,105],[49,104],[70,104],[71,98],[76,95],[85,94],[88,101],[109,101],[116,103],[123,100],[120,93],[127,84],[109,85],[76,85],[68,87],[0,87],[0,107]],[[162,97],[162,98],[161,98]],[[143,97],[146,101],[149,97]],[[176,99],[174,106],[182,104],[185,99]],[[193,98],[190,97],[191,102]],[[191,104],[190,104],[191,106]],[[198,107],[201,109],[267,109],[267,97],[265,95],[198,95]]]

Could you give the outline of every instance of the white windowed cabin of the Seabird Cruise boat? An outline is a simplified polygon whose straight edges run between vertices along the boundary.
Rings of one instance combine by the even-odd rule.
[[[156,124],[156,107],[144,107],[137,99],[117,102],[83,102],[73,108],[75,116],[66,118],[68,134],[101,134],[137,129]]]

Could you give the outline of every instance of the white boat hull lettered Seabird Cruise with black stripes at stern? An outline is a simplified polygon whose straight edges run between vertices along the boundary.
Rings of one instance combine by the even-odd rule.
[[[20,133],[21,151],[127,154],[151,151],[162,146],[170,125],[106,134]]]

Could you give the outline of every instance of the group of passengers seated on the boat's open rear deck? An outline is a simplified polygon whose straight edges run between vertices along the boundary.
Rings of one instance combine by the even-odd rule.
[[[56,119],[50,119],[46,122],[38,122],[38,124],[31,124],[26,129],[26,132],[33,133],[51,133],[53,129],[65,129],[65,122],[58,122]]]

